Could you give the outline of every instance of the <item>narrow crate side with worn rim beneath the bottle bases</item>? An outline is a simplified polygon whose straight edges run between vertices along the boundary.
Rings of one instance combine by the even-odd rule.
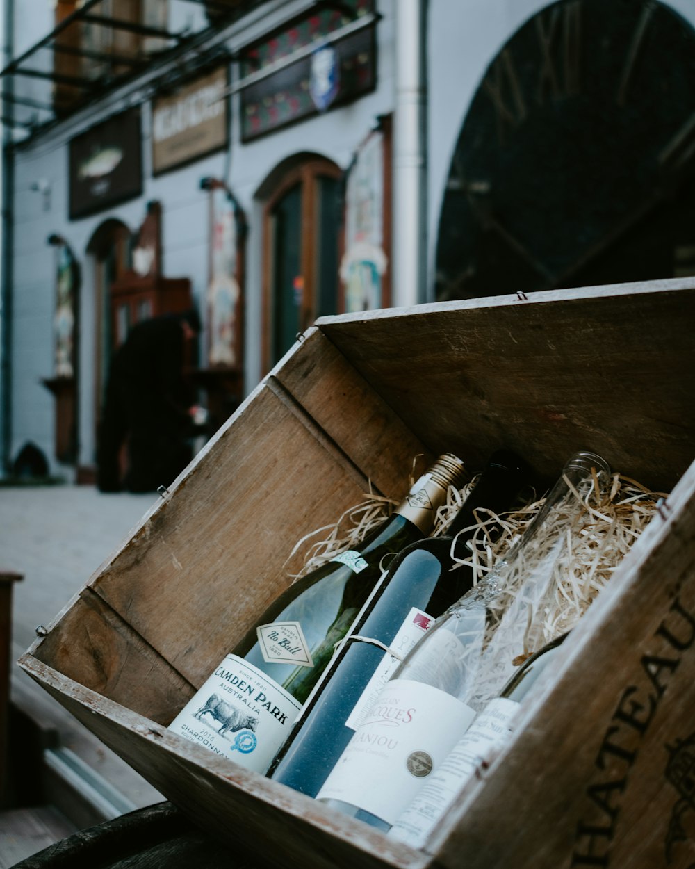
[[[429,859],[66,679],[29,653],[21,666],[209,833],[287,869],[427,869]],[[237,823],[235,819],[243,819]]]

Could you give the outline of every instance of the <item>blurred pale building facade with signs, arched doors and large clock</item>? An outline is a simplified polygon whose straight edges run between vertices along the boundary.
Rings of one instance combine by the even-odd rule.
[[[215,428],[321,315],[695,272],[690,0],[7,3],[3,473],[151,315]]]

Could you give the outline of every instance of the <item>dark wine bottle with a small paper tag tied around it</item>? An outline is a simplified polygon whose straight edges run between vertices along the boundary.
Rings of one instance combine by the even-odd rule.
[[[394,666],[472,587],[471,567],[451,568],[453,547],[463,557],[477,527],[476,511],[507,509],[525,481],[518,456],[493,454],[447,534],[412,543],[391,562],[275,756],[270,778],[316,796]]]

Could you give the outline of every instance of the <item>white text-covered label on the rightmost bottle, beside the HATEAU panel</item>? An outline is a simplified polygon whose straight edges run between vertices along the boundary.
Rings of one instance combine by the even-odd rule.
[[[491,700],[436,773],[420,788],[388,835],[414,848],[424,846],[436,822],[453,805],[467,782],[505,744],[518,710],[519,704],[514,700],[503,697]]]

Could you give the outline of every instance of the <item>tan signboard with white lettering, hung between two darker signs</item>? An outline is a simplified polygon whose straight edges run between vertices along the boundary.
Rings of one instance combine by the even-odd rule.
[[[152,102],[152,171],[155,175],[228,145],[227,69],[195,79]]]

